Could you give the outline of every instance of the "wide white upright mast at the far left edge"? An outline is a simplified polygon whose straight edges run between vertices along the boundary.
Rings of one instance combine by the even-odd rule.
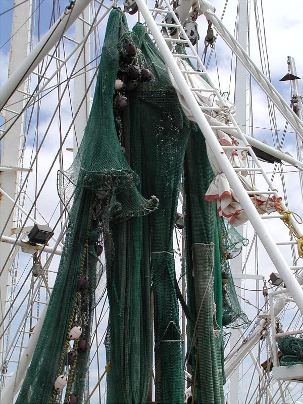
[[[19,6],[20,4],[20,6]],[[17,7],[18,6],[18,7]],[[27,56],[29,49],[29,41],[31,37],[31,10],[32,0],[28,2],[22,2],[22,0],[14,0],[13,11],[13,23],[12,23],[12,39],[10,47],[10,61],[9,61],[9,77],[20,66]],[[28,24],[24,24],[24,21],[29,17]],[[22,25],[24,24],[24,25]],[[26,91],[26,83],[23,82],[20,90]],[[14,104],[11,110],[14,110],[16,114],[19,114],[23,108],[23,97],[20,91],[16,91],[10,98],[10,104]],[[15,113],[6,111],[4,114],[6,121],[15,117]],[[10,130],[9,136],[5,136],[2,145],[1,164],[3,166],[12,167],[11,170],[0,171],[0,183],[1,187],[7,192],[14,200],[16,197],[16,185],[19,181],[18,168],[21,165],[21,155],[23,152],[22,135],[23,135],[23,115],[17,120],[15,125]],[[9,124],[8,124],[9,125]],[[0,232],[3,232],[7,236],[12,236],[12,228],[14,223],[14,216],[10,216],[12,209],[11,203],[7,198],[0,198]],[[8,222],[7,222],[8,220]],[[6,225],[7,222],[7,225]],[[19,248],[16,246],[16,248]],[[11,245],[7,243],[0,243],[0,271],[5,265],[6,259],[10,253]],[[8,263],[10,264],[10,263]],[[0,279],[0,324],[5,316],[6,300],[7,300],[7,288],[9,284],[10,265],[5,265],[4,271]],[[0,336],[4,331],[4,324],[0,326]],[[0,337],[0,361],[2,363],[3,353],[5,351],[5,335]]]

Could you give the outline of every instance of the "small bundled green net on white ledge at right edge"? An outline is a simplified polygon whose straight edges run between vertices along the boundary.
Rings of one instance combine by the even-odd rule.
[[[282,337],[277,342],[283,355],[280,366],[303,364],[303,338]]]

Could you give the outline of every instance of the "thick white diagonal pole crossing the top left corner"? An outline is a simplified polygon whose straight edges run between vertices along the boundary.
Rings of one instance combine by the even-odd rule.
[[[80,16],[91,0],[76,0],[71,10],[65,11],[49,29],[32,52],[23,60],[0,89],[0,110],[8,102],[12,94],[23,81],[33,72],[49,51],[61,39],[62,35]]]

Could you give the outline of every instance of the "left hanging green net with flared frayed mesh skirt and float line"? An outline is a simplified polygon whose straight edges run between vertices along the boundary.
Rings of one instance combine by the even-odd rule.
[[[120,345],[122,350],[125,348],[124,357],[117,348],[117,357],[111,358],[113,372],[110,371],[109,375],[115,370],[119,373],[122,371],[120,384],[114,386],[121,395],[118,400],[114,399],[112,402],[144,402],[147,394],[151,357],[150,279],[148,261],[146,262],[144,253],[137,254],[145,237],[142,218],[139,216],[153,211],[158,201],[156,197],[146,200],[140,195],[135,186],[139,182],[138,175],[131,170],[121,151],[114,124],[113,93],[119,64],[117,44],[126,30],[125,18],[119,11],[113,10],[109,17],[93,105],[84,138],[72,167],[59,175],[59,188],[64,190],[60,196],[66,205],[74,194],[70,224],[49,308],[31,365],[17,398],[18,404],[54,402],[58,398],[55,396],[54,383],[62,373],[69,376],[65,400],[67,401],[70,392],[77,394],[79,402],[88,400],[89,341],[92,309],[95,305],[94,288],[97,277],[100,277],[101,266],[93,254],[95,243],[89,240],[92,229],[103,234],[108,247],[107,272],[113,268],[115,271],[110,272],[110,279],[112,276],[114,281],[111,283],[113,287],[109,288],[109,299],[113,301],[113,294],[117,290],[122,296],[121,301],[118,298],[119,321],[116,325],[119,329],[114,329],[114,322],[111,322],[110,330],[111,337],[115,335],[118,340],[116,346]],[[96,191],[100,190],[107,192],[107,196],[102,200],[95,198]],[[135,218],[117,224],[116,231],[111,234],[114,222],[125,221],[130,217]],[[133,240],[128,238],[129,235],[132,235]],[[115,243],[118,244],[117,250]],[[144,268],[145,273],[140,272],[140,266]],[[131,273],[129,268],[132,268]],[[90,286],[86,291],[79,292],[79,278],[85,275],[90,278]],[[83,309],[81,307],[85,297],[88,298],[89,304]],[[75,324],[82,325],[81,338],[87,340],[88,348],[80,353],[77,349],[78,342],[74,343],[76,360],[73,366],[65,367],[67,333]],[[113,329],[115,332],[112,332]],[[125,358],[128,359],[131,369],[124,364]]]

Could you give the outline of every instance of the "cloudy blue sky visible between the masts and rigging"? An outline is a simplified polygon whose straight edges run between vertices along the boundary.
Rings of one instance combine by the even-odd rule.
[[[68,5],[67,0],[61,0],[61,12]],[[44,32],[49,27],[50,24],[50,12],[52,9],[53,1],[51,0],[41,0],[40,2],[40,24],[38,24],[38,17],[35,21],[35,33],[34,33],[34,43],[37,43],[38,36],[42,36]],[[105,4],[111,5],[112,3],[109,0],[105,0]],[[217,0],[213,2],[216,7],[216,13],[219,17],[221,17],[223,8],[225,5],[225,1]],[[259,54],[259,46],[256,35],[256,20],[254,15],[254,5],[258,6],[259,18],[262,21],[262,8],[263,6],[263,15],[264,15],[264,23],[265,23],[265,36],[263,35],[263,40],[266,39],[267,49],[268,49],[268,60],[270,66],[270,77],[273,85],[278,89],[278,91],[282,94],[287,103],[289,103],[291,92],[290,92],[290,83],[289,82],[279,82],[279,79],[287,73],[287,56],[292,56],[295,59],[297,75],[299,77],[303,77],[303,53],[302,53],[302,44],[300,40],[300,34],[303,30],[303,2],[301,0],[294,0],[291,2],[291,7],[286,7],[287,4],[285,0],[266,0],[261,2],[258,0],[256,2],[250,1],[250,45],[249,45],[249,53],[254,62],[262,67],[260,62],[260,54]],[[12,11],[6,12],[6,10],[10,9],[13,5],[12,0],[0,0],[0,60],[2,62],[2,68],[0,69],[0,85],[2,85],[7,77],[7,68],[8,68],[8,60],[9,60],[9,42],[7,42],[10,38],[11,24],[12,24]],[[150,2],[150,5],[153,6],[153,2]],[[38,0],[36,0],[36,6],[38,6]],[[122,7],[122,1],[118,2],[118,6]],[[229,29],[230,32],[234,32],[235,20],[236,20],[236,9],[237,9],[237,0],[228,0],[226,12],[224,14],[223,23]],[[5,14],[2,14],[5,13]],[[2,14],[2,15],[1,15]],[[59,11],[57,10],[57,15],[59,15]],[[137,15],[135,16],[127,16],[129,27],[136,22]],[[199,41],[199,54],[203,51],[204,48],[204,37],[206,35],[207,30],[207,21],[204,16],[200,16],[198,18],[198,30],[200,35]],[[100,43],[102,43],[104,33],[105,33],[105,23],[102,23],[98,29],[98,37]],[[40,31],[40,32],[38,32]],[[74,36],[74,28],[72,27],[69,30],[68,35]],[[5,44],[7,42],[7,44]],[[265,42],[264,42],[265,43]],[[99,47],[99,45],[98,45]],[[72,50],[73,44],[66,42],[65,44],[65,52],[68,53]],[[216,83],[218,88],[223,91],[228,91],[230,93],[230,99],[233,99],[233,77],[230,79],[230,71],[234,71],[235,62],[234,59],[231,63],[231,53],[227,45],[223,42],[221,38],[217,39],[216,42],[216,58],[217,63],[213,57],[209,64],[209,72]],[[61,50],[61,55],[63,51]],[[96,55],[99,56],[98,52]],[[209,55],[209,54],[208,54]],[[208,61],[208,55],[206,60]],[[68,77],[68,73],[71,71],[73,66],[74,58],[71,59],[71,62],[68,64],[68,72],[63,72],[61,80]],[[54,65],[51,66],[50,70],[54,70]],[[233,74],[232,74],[233,76]],[[36,79],[32,78],[32,89],[34,88]],[[231,84],[230,84],[231,83]],[[248,77],[247,77],[247,85],[248,85]],[[219,86],[220,85],[220,86]],[[71,82],[70,86],[71,94],[73,93],[73,82]],[[303,84],[301,84],[301,90],[303,90]],[[45,97],[41,106],[40,113],[40,123],[39,123],[39,139],[45,133],[49,119],[57,105],[58,96],[55,92],[52,93],[52,96]],[[251,111],[252,114],[252,122],[254,123],[254,135],[259,139],[266,139],[270,144],[274,145],[275,140],[273,137],[273,132],[270,129],[270,120],[267,106],[267,98],[262,93],[260,87],[252,80],[251,84],[251,97],[252,97],[252,107],[247,107],[247,111]],[[72,95],[71,95],[72,99]],[[35,117],[35,113],[34,113]],[[38,175],[37,182],[38,188],[41,186],[43,179],[48,171],[50,162],[53,159],[57,149],[58,142],[60,140],[60,133],[64,135],[67,132],[69,127],[71,117],[71,109],[70,109],[70,99],[68,96],[64,97],[62,102],[61,109],[61,123],[62,126],[59,127],[58,118],[55,119],[53,125],[49,129],[49,133],[45,138],[45,142],[41,149],[39,160],[38,160]],[[282,138],[283,129],[285,126],[285,122],[279,113],[276,115],[277,119],[277,129],[280,131],[279,138]],[[0,117],[0,124],[3,122],[3,119]],[[28,148],[25,152],[24,164],[29,164],[31,161],[32,154],[32,146],[35,143],[35,131],[30,128],[28,133]],[[251,129],[250,129],[251,130]],[[287,127],[287,133],[285,136],[285,141],[282,147],[283,151],[288,151],[292,156],[295,156],[295,142],[294,142],[294,134],[293,130],[290,126]],[[64,169],[67,169],[73,160],[73,154],[70,151],[67,151],[66,148],[73,147],[73,138],[72,131],[70,135],[67,137],[66,143],[64,145],[63,150],[63,160],[64,160]],[[266,165],[268,171],[272,171],[272,167]],[[54,169],[49,175],[49,178],[44,186],[41,195],[38,199],[38,209],[41,212],[41,216],[37,213],[37,217],[39,220],[42,220],[42,217],[45,218],[47,223],[54,225],[56,222],[56,217],[58,216],[59,208],[56,207],[58,205],[58,195],[57,195],[57,170],[59,169],[59,163],[56,162]],[[33,171],[33,175],[35,174],[35,169]],[[285,186],[287,189],[287,194],[289,195],[289,205],[290,208],[298,212],[299,214],[303,214],[302,208],[302,199],[300,196],[299,188],[296,185],[296,182],[293,181],[295,174],[293,172],[285,174]],[[297,178],[296,178],[297,179]],[[31,200],[34,196],[33,185],[34,178],[29,180],[28,185],[28,196],[25,197],[25,208],[29,209],[31,206]],[[275,184],[277,184],[277,188],[281,187],[281,178],[275,178]],[[55,211],[55,213],[54,213]],[[52,216],[54,213],[54,216]],[[267,221],[270,222],[270,221]],[[283,239],[283,237],[287,236],[287,232],[284,230],[283,224],[281,223],[279,226],[275,227],[268,224],[270,232],[275,235],[278,234],[279,239]],[[245,229],[247,231],[248,238],[252,238],[251,228]],[[58,231],[56,231],[58,234]],[[260,273],[268,276],[270,272],[272,272],[272,265],[266,254],[262,252],[262,246],[259,244],[259,261],[258,261],[258,270]],[[284,250],[283,250],[284,251]],[[286,250],[285,250],[286,251]],[[288,257],[285,252],[285,257],[291,261],[291,257]],[[28,260],[28,257],[25,257]],[[24,262],[22,262],[23,267],[25,267],[25,258]],[[45,258],[43,258],[45,259]],[[58,265],[58,259],[53,261],[54,269]],[[247,272],[252,273],[255,271],[255,260],[251,260],[247,265]],[[247,281],[245,283],[245,287],[252,288],[252,286],[256,286],[255,283],[251,281]],[[253,298],[252,293],[246,292],[246,298]],[[106,320],[104,320],[104,325],[106,324]],[[100,337],[102,332],[100,332]],[[104,362],[104,361],[103,361]],[[104,365],[104,363],[102,364]],[[92,377],[92,381],[95,381],[97,378],[96,374]],[[245,389],[245,386],[243,387]]]

